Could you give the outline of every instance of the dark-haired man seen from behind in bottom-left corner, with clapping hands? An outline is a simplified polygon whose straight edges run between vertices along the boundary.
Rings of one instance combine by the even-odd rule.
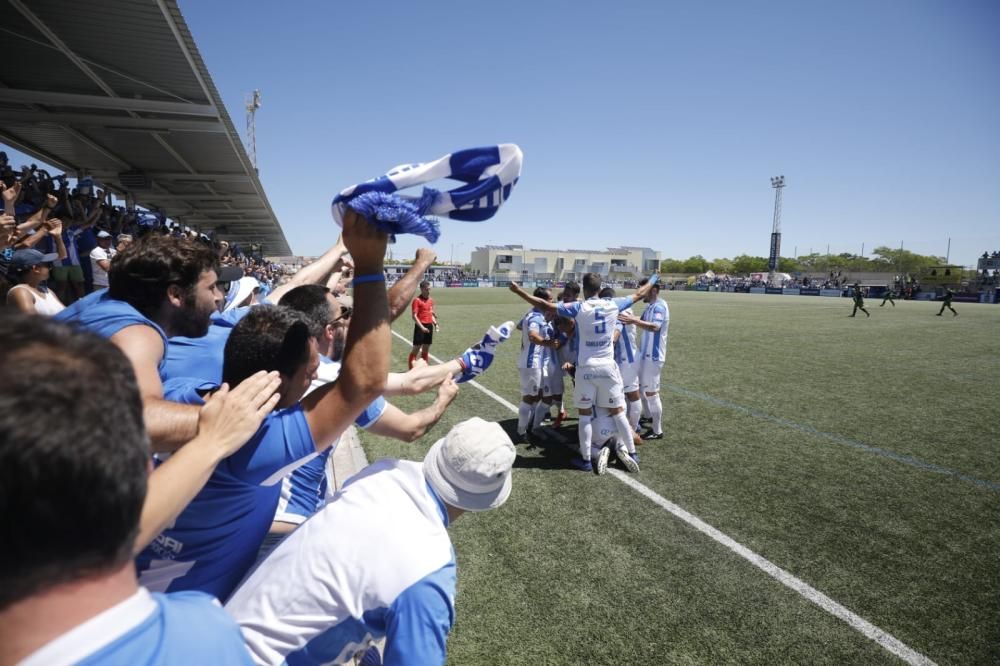
[[[136,581],[150,449],[129,360],[42,317],[5,315],[0,339],[0,662],[252,663],[211,597]],[[240,439],[245,402],[211,401],[177,455]]]

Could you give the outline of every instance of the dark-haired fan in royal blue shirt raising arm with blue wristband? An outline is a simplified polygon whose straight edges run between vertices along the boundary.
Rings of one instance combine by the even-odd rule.
[[[364,227],[363,220],[345,225],[344,241],[359,273],[381,276],[386,237]],[[260,370],[278,371],[278,410],[215,468],[175,525],[140,553],[136,564],[143,585],[228,597],[267,533],[281,479],[328,449],[381,394],[391,345],[385,285],[365,281],[355,285],[355,295],[364,306],[354,310],[340,378],[305,398],[319,366],[310,319],[285,307],[256,307],[232,329],[222,379],[238,386]],[[169,388],[174,400],[197,403],[198,390],[210,386],[195,382]]]

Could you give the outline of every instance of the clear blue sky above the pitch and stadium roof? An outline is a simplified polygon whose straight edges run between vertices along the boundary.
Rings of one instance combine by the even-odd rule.
[[[1000,249],[1000,4],[180,0],[292,248],[340,189],[514,142],[521,182],[478,244],[766,255]],[[377,9],[375,9],[377,7]],[[401,238],[396,256],[417,239]]]

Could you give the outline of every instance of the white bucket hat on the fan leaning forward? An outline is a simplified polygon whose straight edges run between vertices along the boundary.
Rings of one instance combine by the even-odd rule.
[[[462,421],[424,456],[424,476],[445,504],[464,511],[495,509],[510,496],[517,453],[497,423]]]

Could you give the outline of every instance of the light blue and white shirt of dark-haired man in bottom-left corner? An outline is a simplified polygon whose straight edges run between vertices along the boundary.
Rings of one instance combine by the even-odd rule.
[[[239,627],[211,597],[198,592],[128,599],[71,629],[21,662],[49,664],[247,664]]]

